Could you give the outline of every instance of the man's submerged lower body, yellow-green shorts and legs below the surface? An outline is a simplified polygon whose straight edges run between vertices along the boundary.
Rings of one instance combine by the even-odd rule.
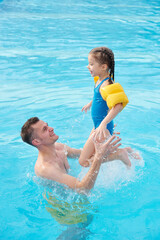
[[[87,227],[91,224],[96,209],[86,195],[74,194],[68,201],[48,191],[43,193],[43,197],[47,212],[59,224],[67,227],[57,239],[88,239],[92,233]]]

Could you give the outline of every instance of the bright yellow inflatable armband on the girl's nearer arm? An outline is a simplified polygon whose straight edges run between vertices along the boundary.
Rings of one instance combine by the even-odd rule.
[[[127,105],[128,98],[119,83],[110,84],[100,89],[102,98],[107,102],[109,109],[116,104],[122,103],[123,108]]]

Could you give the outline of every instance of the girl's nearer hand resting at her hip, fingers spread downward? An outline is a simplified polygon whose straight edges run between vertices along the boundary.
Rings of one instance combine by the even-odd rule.
[[[108,137],[110,137],[110,132],[106,128],[106,125],[101,123],[95,130],[94,139],[98,142],[103,142]]]

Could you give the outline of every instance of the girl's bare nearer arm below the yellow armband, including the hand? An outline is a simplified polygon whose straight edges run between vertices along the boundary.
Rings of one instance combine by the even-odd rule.
[[[103,119],[99,127],[96,129],[95,138],[99,141],[103,140],[110,135],[109,131],[106,129],[107,124],[112,121],[118,113],[123,109],[123,104],[116,104],[107,114],[107,116]]]

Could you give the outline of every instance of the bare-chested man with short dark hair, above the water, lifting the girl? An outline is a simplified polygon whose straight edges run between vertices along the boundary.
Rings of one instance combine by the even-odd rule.
[[[95,155],[92,157],[90,168],[79,181],[67,173],[70,167],[67,157],[77,158],[81,150],[57,143],[59,137],[46,122],[37,117],[30,118],[21,129],[21,137],[24,142],[35,146],[39,151],[35,164],[37,176],[51,179],[79,191],[90,190],[94,186],[102,162],[107,161],[107,156],[121,145],[118,143],[121,139],[114,140],[115,136],[102,144],[95,143]]]

